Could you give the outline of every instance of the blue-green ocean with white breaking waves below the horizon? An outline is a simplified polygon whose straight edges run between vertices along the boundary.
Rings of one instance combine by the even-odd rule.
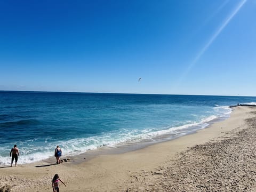
[[[171,140],[228,118],[256,97],[0,91],[0,164],[19,164],[102,147]]]

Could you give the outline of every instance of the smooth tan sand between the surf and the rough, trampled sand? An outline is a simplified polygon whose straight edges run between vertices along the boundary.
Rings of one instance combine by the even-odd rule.
[[[55,165],[42,162],[42,165],[38,165],[37,162],[18,164],[18,167],[1,167],[4,169],[0,169],[0,187],[10,185],[12,180],[15,186],[11,187],[11,191],[49,191],[55,173],[67,184],[67,187],[60,185],[61,191],[143,191],[165,186],[167,181],[164,180],[161,180],[162,185],[157,185],[157,177],[163,176],[163,170],[171,162],[179,162],[181,154],[195,146],[217,142],[227,135],[232,138],[229,133],[231,130],[247,129],[245,119],[253,117],[250,111],[256,111],[256,108],[239,106],[228,119],[215,122],[196,133],[121,154],[99,154],[86,161],[82,159],[82,163],[64,162]],[[22,189],[19,188],[21,186]]]

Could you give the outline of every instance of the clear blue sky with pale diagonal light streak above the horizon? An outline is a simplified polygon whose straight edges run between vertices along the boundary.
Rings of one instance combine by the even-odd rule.
[[[0,90],[256,95],[256,0],[0,0],[0,17]]]

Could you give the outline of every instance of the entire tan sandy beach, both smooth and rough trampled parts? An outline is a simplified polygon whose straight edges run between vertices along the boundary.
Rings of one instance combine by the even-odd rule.
[[[86,154],[0,167],[10,191],[256,191],[256,107],[234,107],[231,117],[197,133],[123,154]],[[1,191],[1,190],[0,190]]]

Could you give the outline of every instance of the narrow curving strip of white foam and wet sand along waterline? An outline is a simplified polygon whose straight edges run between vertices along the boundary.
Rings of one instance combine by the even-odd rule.
[[[230,114],[231,114],[232,111],[234,110],[234,107],[230,106],[229,108],[232,108],[230,110],[231,111]],[[212,124],[214,124],[216,122],[224,121],[225,119],[229,118],[230,114],[228,116],[225,114],[222,114],[222,116],[211,119],[208,122],[202,121],[200,123],[195,123],[193,125],[192,124],[184,125],[184,126],[187,126],[185,128],[183,128],[183,126],[181,126],[181,128],[179,128],[179,126],[174,127],[175,130],[178,128],[177,131],[174,131],[171,133],[161,133],[159,135],[155,135],[154,137],[151,137],[148,139],[142,139],[142,140],[138,140],[138,141],[127,141],[127,142],[123,142],[123,143],[118,143],[114,146],[103,145],[101,147],[98,147],[97,149],[89,149],[80,154],[73,154],[73,155],[63,154],[61,159],[63,159],[63,163],[64,163],[64,159],[70,159],[69,162],[79,164],[84,161],[87,161],[88,159],[95,158],[99,155],[123,154],[123,153],[127,153],[130,151],[143,149],[143,148],[151,146],[151,145],[156,145],[157,143],[171,141],[171,140],[174,140],[174,139],[177,139],[180,137],[184,137],[185,135],[194,134],[199,130],[207,129]],[[19,163],[19,160],[18,160],[18,163]],[[47,157],[45,159],[41,159],[38,161],[22,163],[20,165],[44,164],[44,163],[53,164],[54,162],[55,162],[55,157],[51,156],[51,157]],[[9,164],[0,164],[0,167],[4,167],[4,166],[7,167],[7,166],[9,166]]]

